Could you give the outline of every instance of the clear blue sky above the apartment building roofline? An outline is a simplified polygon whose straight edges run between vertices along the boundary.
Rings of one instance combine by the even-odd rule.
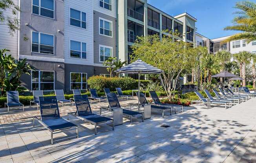
[[[256,2],[256,0],[252,0]],[[148,0],[148,4],[176,16],[185,11],[197,18],[197,32],[210,38],[228,36],[236,31],[224,31],[232,24],[234,6],[239,0]]]

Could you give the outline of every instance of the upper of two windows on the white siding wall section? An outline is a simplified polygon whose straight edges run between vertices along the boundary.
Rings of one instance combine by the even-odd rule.
[[[70,9],[70,25],[86,29],[86,13]]]

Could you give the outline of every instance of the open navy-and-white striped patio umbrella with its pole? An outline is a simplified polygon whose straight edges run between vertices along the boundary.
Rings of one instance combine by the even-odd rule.
[[[115,72],[126,73],[126,74],[138,74],[139,76],[138,95],[139,95],[141,74],[161,74],[163,71],[139,59],[133,63],[130,63],[122,67],[121,69],[116,70]],[[138,96],[138,108],[139,108],[139,96]]]

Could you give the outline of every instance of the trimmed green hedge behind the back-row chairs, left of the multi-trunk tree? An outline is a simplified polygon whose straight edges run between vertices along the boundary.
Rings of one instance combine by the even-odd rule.
[[[149,80],[140,80],[141,83],[146,87]],[[110,88],[110,91],[115,91],[115,88],[121,88],[124,90],[137,89],[138,80],[130,77],[118,78],[112,77],[107,78],[104,76],[91,76],[88,80],[88,85],[91,88],[97,89],[97,91],[104,92],[104,88]]]

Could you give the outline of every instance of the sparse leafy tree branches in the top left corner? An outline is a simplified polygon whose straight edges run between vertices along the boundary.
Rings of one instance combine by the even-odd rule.
[[[4,12],[11,10],[13,16],[6,16]],[[0,0],[0,25],[7,25],[9,27],[9,33],[13,36],[15,31],[19,29],[19,20],[16,18],[20,8],[13,0]]]

